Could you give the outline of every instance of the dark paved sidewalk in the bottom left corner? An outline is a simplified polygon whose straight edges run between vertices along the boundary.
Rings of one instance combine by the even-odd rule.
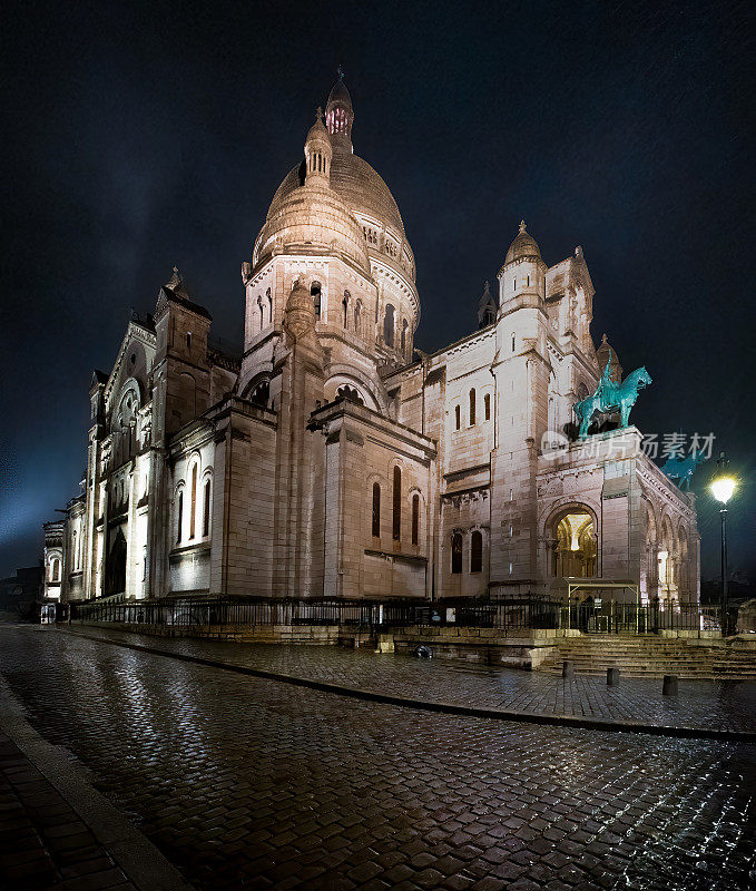
[[[60,793],[0,732],[0,888],[136,891]]]

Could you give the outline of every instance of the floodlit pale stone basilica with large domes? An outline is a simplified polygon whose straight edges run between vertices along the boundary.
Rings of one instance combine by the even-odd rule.
[[[576,403],[605,370],[622,375],[591,335],[582,248],[549,265],[513,225],[471,333],[415,350],[412,247],[353,124],[340,78],[242,263],[237,352],[213,342],[174,270],[112,369],[94,372],[80,492],[45,526],[47,597],[430,600],[582,584],[696,601],[694,497],[631,424],[578,435]]]

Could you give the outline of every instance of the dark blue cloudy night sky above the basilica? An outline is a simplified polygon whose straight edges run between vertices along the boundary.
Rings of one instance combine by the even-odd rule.
[[[717,437],[756,576],[752,3],[33,3],[6,9],[0,575],[78,493],[88,389],[178,265],[240,342],[249,260],[344,66],[355,151],[418,265],[416,345],[475,327],[521,217],[583,247],[644,432]],[[700,469],[703,576],[719,518]]]

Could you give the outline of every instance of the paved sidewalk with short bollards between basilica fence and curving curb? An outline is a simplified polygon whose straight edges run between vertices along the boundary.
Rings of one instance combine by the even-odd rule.
[[[661,695],[661,678],[626,678],[608,687],[602,677],[553,675],[512,668],[413,659],[326,646],[276,646],[165,638],[72,626],[77,634],[136,643],[395,696],[442,699],[531,714],[756,732],[756,682],[680,681],[678,696]]]

